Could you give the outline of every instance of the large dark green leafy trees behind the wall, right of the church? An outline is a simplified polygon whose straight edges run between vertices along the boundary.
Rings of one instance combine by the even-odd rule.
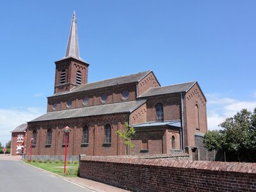
[[[227,152],[228,161],[256,162],[256,108],[253,113],[242,109],[220,124],[220,131],[205,134],[208,150],[221,149]]]

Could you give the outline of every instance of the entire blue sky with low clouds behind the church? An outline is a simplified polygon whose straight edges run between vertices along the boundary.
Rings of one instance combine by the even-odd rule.
[[[162,86],[198,81],[209,129],[256,107],[256,1],[3,1],[0,141],[46,111],[54,61],[76,10],[88,81],[153,70]]]

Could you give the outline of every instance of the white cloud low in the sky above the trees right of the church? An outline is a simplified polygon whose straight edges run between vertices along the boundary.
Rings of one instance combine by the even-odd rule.
[[[222,97],[221,94],[206,94],[207,96],[207,123],[208,129],[221,129],[218,127],[225,118],[236,115],[241,109],[253,111],[256,101],[241,101],[230,97]]]

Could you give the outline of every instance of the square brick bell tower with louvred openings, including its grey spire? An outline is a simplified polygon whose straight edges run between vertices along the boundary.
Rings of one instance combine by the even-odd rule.
[[[87,83],[89,64],[79,56],[75,11],[72,16],[65,57],[55,61],[55,65],[54,94],[66,92]]]

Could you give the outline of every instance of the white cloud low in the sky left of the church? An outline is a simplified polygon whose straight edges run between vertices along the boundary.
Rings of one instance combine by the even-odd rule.
[[[11,139],[10,131],[43,113],[41,108],[0,109],[0,142],[5,145]]]

